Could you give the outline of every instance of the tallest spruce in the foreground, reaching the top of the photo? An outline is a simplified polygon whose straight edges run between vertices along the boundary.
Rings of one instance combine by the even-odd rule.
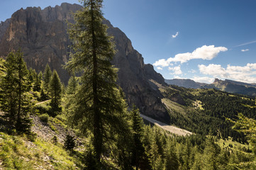
[[[84,0],[82,4],[74,14],[75,23],[69,24],[74,54],[66,67],[70,72],[82,72],[69,118],[82,132],[91,134],[92,153],[99,168],[103,153],[110,152],[118,135],[126,134],[126,102],[116,86],[117,69],[111,65],[115,50],[102,23],[102,0]]]

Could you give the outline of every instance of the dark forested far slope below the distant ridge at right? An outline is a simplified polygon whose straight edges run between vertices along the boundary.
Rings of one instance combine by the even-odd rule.
[[[185,113],[170,111],[170,123],[200,135],[216,135],[222,138],[233,137],[233,140],[245,143],[243,133],[232,129],[227,118],[237,119],[238,113],[248,118],[256,118],[255,98],[238,94],[229,94],[216,89],[185,89],[169,86],[165,97],[179,97],[183,101]],[[201,106],[196,106],[200,101]],[[195,109],[196,108],[196,109]]]

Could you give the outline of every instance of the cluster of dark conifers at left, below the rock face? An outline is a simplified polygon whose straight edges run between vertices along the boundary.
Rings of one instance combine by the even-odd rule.
[[[52,73],[48,64],[44,74],[37,74],[35,69],[27,69],[23,53],[18,50],[9,53],[0,65],[0,109],[4,112],[6,130],[30,134],[29,115],[42,112],[40,107],[35,107],[40,101],[50,99],[49,109],[43,112],[52,116],[60,114],[63,86],[57,72]]]

